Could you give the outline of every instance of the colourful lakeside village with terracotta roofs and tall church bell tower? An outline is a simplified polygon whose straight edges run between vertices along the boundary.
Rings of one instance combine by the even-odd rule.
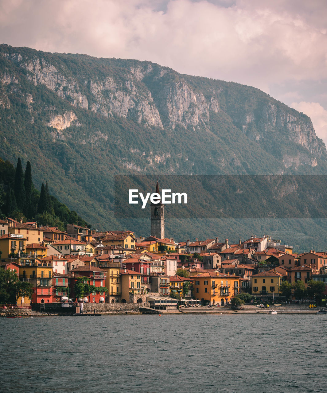
[[[164,208],[151,204],[148,237],[128,230],[96,232],[68,224],[60,231],[37,222],[0,220],[0,266],[16,270],[20,281],[33,286],[31,299],[18,298],[18,307],[80,300],[148,301],[156,308],[156,298],[161,307],[172,298],[224,306],[242,293],[262,301],[273,295],[278,299],[285,281],[301,281],[302,288],[310,280],[327,285],[326,252],[294,253],[292,246],[269,235],[251,235],[237,244],[217,237],[175,242],[165,237]],[[75,293],[77,283],[88,285],[83,298]]]

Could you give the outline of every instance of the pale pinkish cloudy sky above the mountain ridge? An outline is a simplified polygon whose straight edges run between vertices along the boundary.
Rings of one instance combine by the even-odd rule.
[[[257,87],[327,144],[325,0],[0,0],[0,42]]]

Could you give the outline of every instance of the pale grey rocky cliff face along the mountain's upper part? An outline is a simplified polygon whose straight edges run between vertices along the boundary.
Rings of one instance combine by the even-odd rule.
[[[78,55],[67,55],[72,60],[65,59],[65,55],[54,60],[55,55],[36,51],[26,54],[26,50],[8,46],[0,46],[0,54],[22,70],[35,86],[44,85],[72,107],[91,110],[106,118],[119,116],[144,127],[161,130],[175,130],[176,125],[180,125],[188,130],[207,132],[215,127],[211,121],[224,113],[251,141],[258,144],[269,141],[273,145],[276,141],[283,143],[283,140],[301,146],[304,149],[301,154],[281,154],[280,159],[286,169],[302,164],[314,167],[318,164],[317,158],[326,156],[325,145],[317,138],[310,119],[262,92],[260,100],[246,97],[243,93],[246,98],[242,98],[242,102],[236,98],[234,108],[230,110],[226,105],[226,96],[230,95],[227,83],[212,81],[214,86],[208,87],[208,82],[204,85],[198,81],[195,87],[191,83],[192,77],[149,62],[115,62],[111,59],[105,72],[98,63],[94,64],[94,72],[89,72],[83,56],[84,62],[72,68],[70,61],[74,62]],[[86,57],[89,62],[90,59],[92,61],[92,58]],[[0,107],[10,108],[3,86],[10,84],[12,90],[19,89],[17,76],[5,70],[0,73],[0,81]],[[239,85],[239,89],[245,88]],[[255,89],[252,90],[257,94]],[[233,94],[237,95],[237,92]],[[32,96],[29,102],[33,102]],[[73,110],[60,114],[50,110],[49,116],[50,121],[46,124],[56,130],[53,132],[55,139],[65,138],[62,130],[79,123]],[[215,129],[215,132],[219,133],[220,129]],[[237,152],[232,155],[234,165],[240,166]]]

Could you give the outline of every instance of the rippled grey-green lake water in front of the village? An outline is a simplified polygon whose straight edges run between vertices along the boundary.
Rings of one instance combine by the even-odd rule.
[[[325,392],[326,315],[0,319],[2,392]]]

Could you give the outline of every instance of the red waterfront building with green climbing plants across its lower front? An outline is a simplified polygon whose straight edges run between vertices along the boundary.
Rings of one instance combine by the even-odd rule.
[[[106,284],[106,270],[103,270],[101,268],[97,268],[95,266],[90,266],[90,265],[85,265],[85,266],[79,266],[73,270],[70,271],[70,294],[71,298],[73,300],[76,299],[75,293],[74,293],[74,285],[76,281],[81,278],[81,277],[87,277],[85,280],[87,284],[94,285],[96,288],[99,288],[99,290],[96,290],[96,292],[91,292],[90,294],[85,294],[84,297],[87,298],[87,301],[89,303],[100,303],[105,301],[105,289],[100,289],[100,288],[105,288]]]

